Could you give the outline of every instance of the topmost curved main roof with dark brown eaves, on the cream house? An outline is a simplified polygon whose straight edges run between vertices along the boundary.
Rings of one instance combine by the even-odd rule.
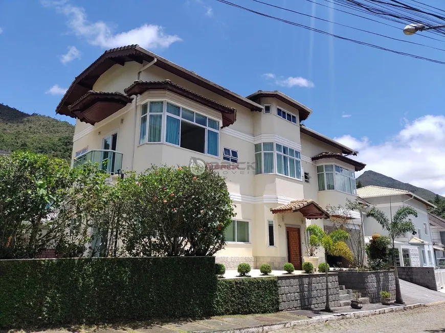
[[[250,110],[261,111],[263,109],[261,105],[244,98],[237,93],[230,91],[229,89],[221,87],[220,85],[217,85],[216,83],[197,75],[191,70],[176,65],[175,63],[162,58],[157,54],[151,53],[135,44],[105,51],[98,59],[96,59],[96,61],[94,61],[74,79],[73,83],[70,85],[68,90],[66,90],[62,100],[57,106],[56,113],[74,117],[74,114],[68,109],[68,106],[80,99],[88,90],[93,89],[97,79],[110,67],[116,64],[123,66],[127,61],[136,61],[143,64],[144,61],[151,62],[155,58],[157,61],[153,64],[153,66],[158,66],[165,69],[167,72],[215,92],[230,101],[247,107]]]

